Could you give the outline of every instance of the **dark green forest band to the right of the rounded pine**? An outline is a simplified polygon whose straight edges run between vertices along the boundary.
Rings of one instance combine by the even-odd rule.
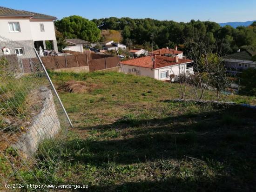
[[[256,22],[251,26],[221,27],[216,22],[195,21],[189,23],[160,21],[153,19],[105,18],[92,20],[98,28],[121,30],[123,41],[127,45],[145,45],[152,41],[158,47],[180,45],[196,36],[207,36],[211,46],[221,45],[225,53],[232,53],[238,48],[256,51]]]

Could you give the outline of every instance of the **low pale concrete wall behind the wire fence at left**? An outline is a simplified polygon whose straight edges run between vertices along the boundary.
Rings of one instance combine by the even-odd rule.
[[[32,157],[44,139],[53,138],[61,129],[51,91],[42,87],[40,88],[40,95],[44,101],[40,113],[34,116],[27,132],[13,146],[23,152],[25,157]]]

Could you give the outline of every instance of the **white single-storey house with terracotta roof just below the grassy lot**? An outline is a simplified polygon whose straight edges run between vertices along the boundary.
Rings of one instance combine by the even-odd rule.
[[[187,68],[192,60],[179,59],[178,56],[146,56],[132,60],[121,61],[123,73],[148,76],[158,80],[170,80],[170,75],[179,75],[180,73],[193,74],[193,69]]]

